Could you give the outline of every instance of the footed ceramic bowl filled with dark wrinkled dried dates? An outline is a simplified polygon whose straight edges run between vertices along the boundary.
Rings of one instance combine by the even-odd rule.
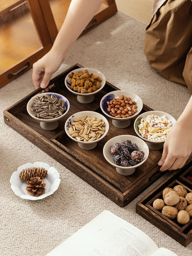
[[[103,147],[107,162],[116,167],[117,173],[131,175],[149,155],[145,141],[133,135],[119,135],[108,140]]]

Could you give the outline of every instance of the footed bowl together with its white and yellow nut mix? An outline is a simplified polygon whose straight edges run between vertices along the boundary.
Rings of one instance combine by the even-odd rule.
[[[150,149],[159,150],[163,148],[165,139],[175,123],[175,118],[168,113],[152,110],[136,118],[134,130]]]

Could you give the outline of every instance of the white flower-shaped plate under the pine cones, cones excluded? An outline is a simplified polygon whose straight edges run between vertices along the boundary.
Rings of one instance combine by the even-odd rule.
[[[27,190],[25,190],[25,188],[27,187],[27,183],[21,181],[19,177],[20,172],[23,169],[30,167],[43,167],[48,171],[47,177],[44,178],[44,182],[46,184],[45,193],[40,195],[39,197],[33,197],[32,195],[27,194]],[[42,162],[35,162],[34,164],[23,164],[18,167],[17,171],[14,171],[10,178],[11,189],[13,190],[13,192],[18,195],[18,197],[28,200],[40,200],[48,197],[48,195],[52,195],[58,189],[60,182],[61,180],[59,178],[58,171],[54,167],[50,167],[48,164]]]

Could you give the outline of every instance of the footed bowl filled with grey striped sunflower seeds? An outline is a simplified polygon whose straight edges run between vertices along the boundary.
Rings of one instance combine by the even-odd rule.
[[[37,121],[44,130],[54,130],[58,120],[69,111],[69,101],[55,92],[44,92],[33,96],[27,103],[28,114]]]

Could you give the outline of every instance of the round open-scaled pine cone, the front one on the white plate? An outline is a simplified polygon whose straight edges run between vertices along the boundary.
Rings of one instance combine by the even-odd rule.
[[[27,181],[28,187],[26,187],[27,193],[38,197],[45,193],[45,183],[40,177],[32,177],[30,181]]]

